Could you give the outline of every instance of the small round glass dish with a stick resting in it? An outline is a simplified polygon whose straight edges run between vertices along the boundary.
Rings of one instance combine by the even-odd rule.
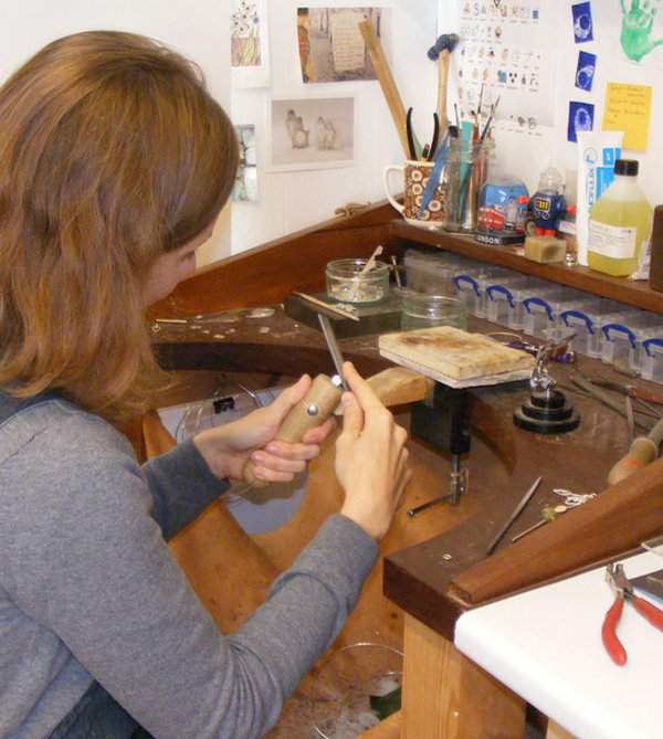
[[[365,270],[368,260],[335,260],[325,267],[327,295],[338,303],[381,303],[389,294],[389,265],[377,261]]]

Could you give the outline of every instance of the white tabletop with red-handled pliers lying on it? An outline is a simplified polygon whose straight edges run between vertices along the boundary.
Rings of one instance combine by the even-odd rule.
[[[621,561],[628,578],[663,569],[663,557],[650,552]],[[581,739],[661,739],[663,632],[624,603],[617,633],[628,662],[612,662],[601,642],[614,600],[604,572],[467,611],[456,622],[454,644]]]

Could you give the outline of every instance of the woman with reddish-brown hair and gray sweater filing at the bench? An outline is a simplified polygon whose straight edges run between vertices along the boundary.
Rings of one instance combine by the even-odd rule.
[[[192,273],[236,160],[196,68],[141,36],[61,39],[0,88],[0,739],[261,736],[409,479],[404,431],[347,365],[345,503],[266,603],[223,636],[170,557],[248,458],[288,481],[329,431],[272,441],[307,377],[143,468],[115,427],[159,380],[144,307]]]

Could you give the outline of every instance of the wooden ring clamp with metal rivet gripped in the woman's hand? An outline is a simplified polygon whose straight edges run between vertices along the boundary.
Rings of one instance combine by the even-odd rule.
[[[319,426],[334,413],[341,394],[343,388],[338,374],[333,378],[318,374],[313,380],[306,395],[290,410],[274,440],[292,444],[301,442],[309,429]],[[259,479],[254,475],[253,468],[253,462],[249,460],[244,465],[244,479],[253,487],[266,487],[269,483]]]

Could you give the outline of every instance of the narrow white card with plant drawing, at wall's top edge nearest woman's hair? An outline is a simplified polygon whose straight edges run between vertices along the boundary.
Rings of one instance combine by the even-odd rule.
[[[230,15],[232,84],[270,85],[270,47],[265,0],[232,0]]]

